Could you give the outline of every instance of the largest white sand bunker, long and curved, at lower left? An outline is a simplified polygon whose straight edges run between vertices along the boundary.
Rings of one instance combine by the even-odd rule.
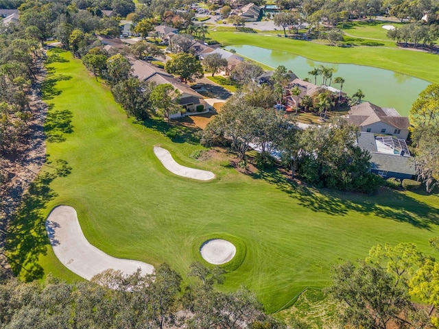
[[[60,262],[72,272],[90,280],[106,269],[120,270],[125,274],[134,273],[139,267],[143,274],[150,274],[154,267],[150,264],[115,258],[91,245],[82,233],[78,215],[74,208],[58,206],[46,220],[46,230],[50,244]]]

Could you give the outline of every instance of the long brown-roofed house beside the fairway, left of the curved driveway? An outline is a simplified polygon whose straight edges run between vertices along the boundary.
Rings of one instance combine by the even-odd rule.
[[[136,60],[132,63],[132,71],[139,80],[146,82],[154,82],[155,84],[171,84],[174,88],[180,92],[178,103],[185,109],[186,112],[201,112],[210,109],[204,97],[193,90],[188,84],[183,84],[175,77],[167,73],[165,70],[154,66],[153,64],[144,62],[143,60]],[[181,114],[177,114],[171,117],[174,119],[180,117]]]

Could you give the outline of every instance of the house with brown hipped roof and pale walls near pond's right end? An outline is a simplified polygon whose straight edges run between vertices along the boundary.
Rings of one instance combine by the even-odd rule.
[[[380,108],[368,101],[353,106],[345,119],[361,132],[391,134],[404,140],[409,136],[409,118],[401,117],[394,108]]]

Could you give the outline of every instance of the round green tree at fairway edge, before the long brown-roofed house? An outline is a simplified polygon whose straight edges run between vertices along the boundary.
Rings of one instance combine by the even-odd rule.
[[[180,92],[171,84],[159,84],[150,95],[154,112],[163,119],[167,118],[168,125],[171,123],[171,114],[182,110],[178,104],[178,97],[180,97]]]

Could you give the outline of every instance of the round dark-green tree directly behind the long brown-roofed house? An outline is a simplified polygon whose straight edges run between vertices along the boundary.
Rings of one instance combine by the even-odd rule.
[[[179,75],[185,82],[203,76],[200,61],[191,53],[178,53],[166,62],[165,70],[168,73]]]

